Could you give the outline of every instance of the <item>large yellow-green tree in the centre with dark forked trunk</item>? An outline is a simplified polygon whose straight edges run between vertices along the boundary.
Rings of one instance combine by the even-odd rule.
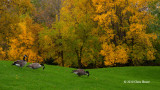
[[[68,67],[81,68],[97,63],[100,49],[98,39],[92,33],[96,26],[90,17],[92,12],[91,1],[65,0],[52,29],[46,28],[40,33],[42,56]]]

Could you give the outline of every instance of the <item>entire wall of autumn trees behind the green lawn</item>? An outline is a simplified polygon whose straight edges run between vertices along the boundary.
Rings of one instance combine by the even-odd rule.
[[[0,59],[66,67],[160,61],[159,0],[1,0]]]

